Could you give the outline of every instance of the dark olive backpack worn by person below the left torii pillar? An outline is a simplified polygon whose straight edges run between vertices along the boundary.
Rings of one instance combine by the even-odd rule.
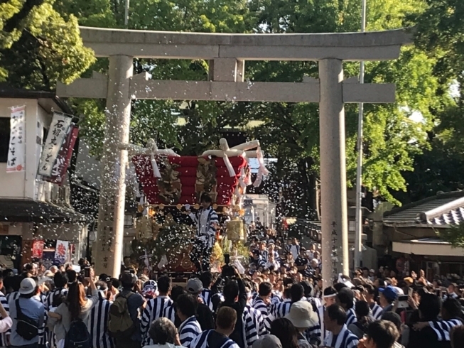
[[[119,294],[109,306],[108,332],[116,339],[130,338],[135,331],[135,323],[129,313],[127,300],[133,293],[124,296]]]

